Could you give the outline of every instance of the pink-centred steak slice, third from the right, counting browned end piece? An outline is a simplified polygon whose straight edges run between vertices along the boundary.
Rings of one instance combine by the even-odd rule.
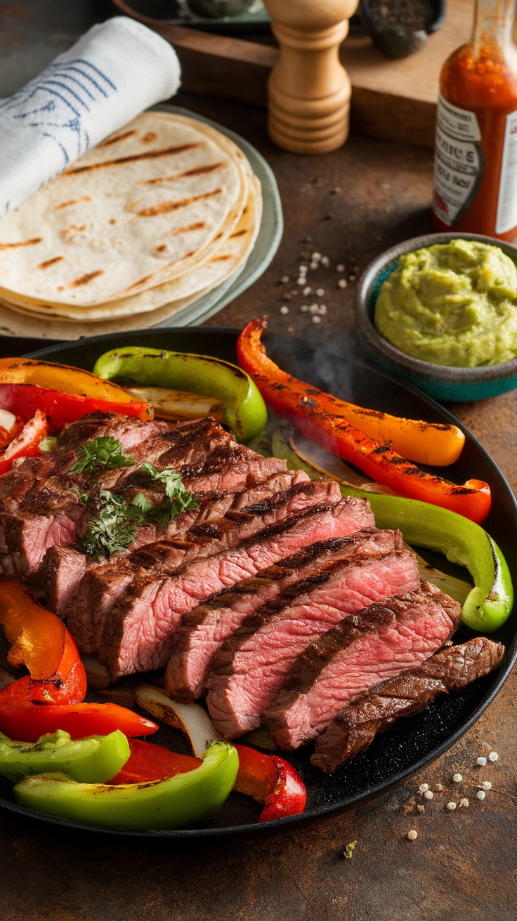
[[[261,717],[311,640],[375,601],[417,589],[415,555],[398,532],[380,531],[355,552],[331,559],[246,618],[225,643],[208,679],[206,703],[226,739],[260,726]],[[370,544],[370,545],[369,545]]]

